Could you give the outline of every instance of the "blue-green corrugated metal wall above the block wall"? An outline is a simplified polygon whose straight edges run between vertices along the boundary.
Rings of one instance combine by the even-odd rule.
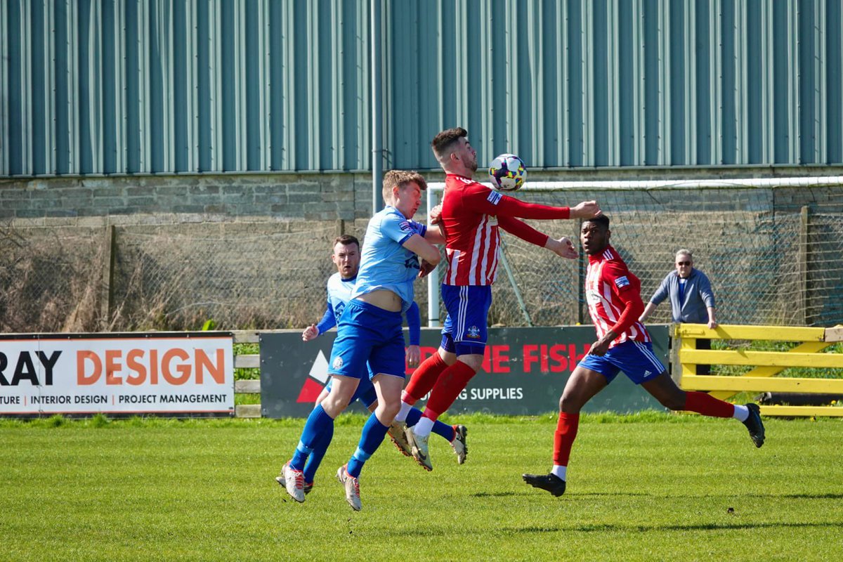
[[[843,163],[840,0],[384,0],[384,165]],[[0,175],[370,169],[369,3],[0,0]]]

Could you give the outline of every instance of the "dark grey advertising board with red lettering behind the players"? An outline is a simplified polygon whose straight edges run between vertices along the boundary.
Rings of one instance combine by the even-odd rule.
[[[668,327],[648,326],[653,349],[668,365]],[[260,404],[270,418],[304,417],[328,382],[328,359],[335,332],[303,342],[301,335],[260,335]],[[435,353],[438,329],[421,330],[422,360]],[[565,382],[596,340],[591,326],[497,328],[489,330],[483,370],[471,380],[448,411],[538,415],[557,411]],[[408,368],[410,375],[413,369]],[[418,405],[423,405],[424,400]],[[360,404],[352,409],[362,411]],[[583,411],[636,412],[663,409],[623,374]]]

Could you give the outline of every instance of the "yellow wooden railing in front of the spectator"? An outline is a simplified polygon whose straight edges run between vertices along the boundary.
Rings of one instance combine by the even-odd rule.
[[[675,324],[674,339],[681,341],[678,361],[681,386],[685,390],[708,391],[719,399],[739,392],[835,393],[843,394],[841,378],[776,377],[788,367],[843,368],[843,354],[821,353],[843,341],[843,327],[790,328],[782,326],[738,326],[724,324],[709,329],[706,324]],[[772,340],[802,342],[789,351],[698,350],[696,340]],[[700,364],[743,365],[755,368],[741,376],[697,375]],[[843,408],[833,406],[761,406],[764,415],[836,415]]]

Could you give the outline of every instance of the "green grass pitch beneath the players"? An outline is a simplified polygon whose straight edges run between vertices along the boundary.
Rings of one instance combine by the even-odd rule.
[[[454,418],[451,418],[454,420]],[[389,443],[353,512],[334,479],[362,426],[338,420],[313,493],[276,484],[303,420],[0,421],[5,560],[829,560],[843,540],[843,423],[584,416],[554,498],[555,416],[464,416],[458,466]]]

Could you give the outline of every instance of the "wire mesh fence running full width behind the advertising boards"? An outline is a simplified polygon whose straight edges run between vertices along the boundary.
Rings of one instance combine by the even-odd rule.
[[[729,324],[843,323],[843,187],[522,190],[525,201],[597,199],[645,302],[679,248],[711,279]],[[577,244],[577,221],[532,222]],[[325,310],[331,243],[366,221],[0,228],[0,330],[302,328]],[[587,324],[586,261],[504,236],[490,324]],[[441,275],[440,268],[439,274]],[[426,281],[416,284],[427,322]],[[444,309],[442,308],[442,316]],[[664,302],[653,323],[668,322]],[[443,318],[440,318],[442,320]]]

